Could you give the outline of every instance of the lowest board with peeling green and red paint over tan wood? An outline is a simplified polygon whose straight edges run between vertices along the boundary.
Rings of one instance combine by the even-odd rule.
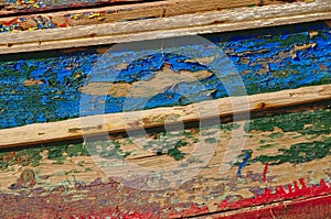
[[[179,218],[223,211],[231,213],[228,210],[249,207],[253,207],[254,217],[258,216],[254,209],[258,208],[266,215],[263,209],[270,209],[273,204],[275,211],[267,215],[273,218],[273,213],[275,217],[281,215],[277,206],[288,205],[290,212],[297,205],[303,206],[303,199],[308,204],[306,208],[297,208],[297,213],[316,205],[328,213],[328,201],[311,199],[323,200],[323,196],[331,193],[330,116],[330,109],[319,109],[252,119],[249,128],[248,122],[224,123],[167,134],[117,136],[85,145],[68,142],[2,152],[1,217]],[[231,161],[231,168],[221,174],[218,168],[228,164],[224,154],[232,139],[231,132],[243,125],[246,127],[247,141],[238,156]],[[146,140],[146,146],[140,144],[141,140]],[[109,166],[113,157],[124,158],[161,172],[163,164],[169,166],[180,162],[181,166],[192,165],[194,168],[195,162],[200,162],[200,156],[190,154],[194,142],[203,142],[205,146],[216,142],[214,156],[195,177],[177,188],[167,188],[167,177],[139,173],[128,173],[125,175],[127,180],[118,183],[116,179],[119,178],[111,176],[113,172],[103,173],[105,167],[96,166],[92,160],[92,156],[102,156],[104,164]],[[153,151],[156,145],[162,150],[159,155]],[[178,152],[170,153],[175,145],[180,145]],[[111,151],[111,147],[116,150]],[[181,168],[177,174],[180,173]],[[132,188],[150,184],[164,189]],[[29,208],[24,207],[26,205]],[[249,210],[246,211],[244,216],[252,216]]]

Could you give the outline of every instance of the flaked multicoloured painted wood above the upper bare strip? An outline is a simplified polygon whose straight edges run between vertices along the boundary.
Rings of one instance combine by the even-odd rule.
[[[303,1],[306,0],[298,0]],[[140,4],[137,4],[140,2]],[[145,2],[145,3],[141,3]],[[157,19],[164,17],[192,14],[196,12],[213,11],[215,8],[217,10],[237,7],[253,7],[257,6],[255,0],[238,1],[235,0],[229,4],[224,4],[224,2],[207,2],[204,6],[199,0],[193,0],[190,2],[174,2],[174,1],[153,1],[147,3],[143,0],[81,0],[81,1],[55,1],[51,0],[4,0],[0,1],[0,33],[1,32],[12,32],[12,31],[33,31],[33,30],[44,30],[44,29],[58,29],[66,26],[78,26],[78,25],[93,25],[99,23],[110,23],[110,22],[125,22],[125,21],[136,21],[136,20],[147,20]],[[281,4],[284,0],[265,0],[259,6],[263,4]],[[290,1],[291,3],[292,1]],[[122,4],[127,6],[122,6]],[[136,3],[136,4],[134,4]],[[121,4],[115,6],[114,4]],[[188,7],[188,6],[194,7]],[[96,6],[110,6],[109,8],[102,9],[85,9],[76,10],[77,8]],[[60,9],[66,9],[61,13],[43,13],[35,14],[35,12],[45,11],[56,11]],[[71,12],[67,12],[71,10]],[[13,14],[17,17],[8,17],[8,14]],[[21,15],[23,14],[23,15]]]

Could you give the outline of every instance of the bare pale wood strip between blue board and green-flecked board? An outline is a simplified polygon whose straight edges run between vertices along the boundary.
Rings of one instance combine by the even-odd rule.
[[[142,128],[158,128],[178,122],[192,122],[213,117],[278,109],[331,99],[331,85],[302,87],[247,97],[207,100],[188,106],[162,107],[102,116],[89,116],[65,121],[33,123],[0,130],[0,149],[25,146],[81,139],[84,135],[126,132]],[[234,103],[234,105],[233,105]]]

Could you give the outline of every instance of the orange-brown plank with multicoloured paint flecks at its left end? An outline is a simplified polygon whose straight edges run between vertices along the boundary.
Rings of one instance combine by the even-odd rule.
[[[284,1],[264,1],[264,6],[279,4]],[[174,15],[192,14],[206,11],[257,6],[255,0],[236,1],[201,1],[201,0],[168,0],[140,4],[115,6],[98,9],[83,9],[74,11],[32,14],[0,19],[0,32],[33,31],[42,29],[68,28],[77,25],[92,25],[111,22],[125,22],[168,18]]]

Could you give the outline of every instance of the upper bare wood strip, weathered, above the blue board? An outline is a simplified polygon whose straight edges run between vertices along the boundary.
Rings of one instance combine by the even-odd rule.
[[[171,18],[2,33],[0,54],[221,33],[329,19],[329,0],[237,8]]]

